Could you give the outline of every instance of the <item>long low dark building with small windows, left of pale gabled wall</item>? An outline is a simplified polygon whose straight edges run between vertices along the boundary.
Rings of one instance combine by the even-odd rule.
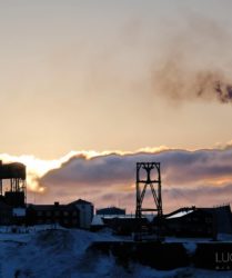
[[[27,224],[46,225],[58,224],[65,228],[80,227],[80,211],[72,205],[30,205],[27,208]]]

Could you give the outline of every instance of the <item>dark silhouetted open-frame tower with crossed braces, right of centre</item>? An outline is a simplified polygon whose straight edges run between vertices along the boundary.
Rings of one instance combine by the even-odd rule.
[[[150,187],[154,207],[143,208],[142,202],[145,191]],[[157,217],[162,217],[162,196],[161,196],[161,173],[160,162],[138,162],[137,163],[137,210],[135,217],[142,218],[143,211],[154,211]]]

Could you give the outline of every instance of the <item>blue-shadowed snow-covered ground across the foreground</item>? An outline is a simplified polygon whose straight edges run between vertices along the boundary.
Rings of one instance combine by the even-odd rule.
[[[158,271],[137,264],[124,269],[115,264],[113,257],[87,250],[93,241],[119,240],[110,232],[51,228],[40,226],[30,230],[22,229],[20,234],[1,228],[0,278],[232,277],[232,271],[216,272],[193,268]],[[194,248],[193,242],[186,248],[191,251]]]

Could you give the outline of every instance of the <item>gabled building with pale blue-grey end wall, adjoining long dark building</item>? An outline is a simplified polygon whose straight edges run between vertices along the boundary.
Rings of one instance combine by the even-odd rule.
[[[81,229],[90,229],[92,218],[93,218],[93,211],[94,207],[92,202],[78,199],[77,201],[72,201],[69,203],[69,206],[74,206],[80,211],[80,228]]]

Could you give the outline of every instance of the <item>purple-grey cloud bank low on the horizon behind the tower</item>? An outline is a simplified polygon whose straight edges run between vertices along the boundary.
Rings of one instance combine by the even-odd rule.
[[[167,150],[157,153],[73,157],[41,178],[46,192],[38,201],[67,202],[85,198],[95,207],[120,205],[134,210],[135,163],[160,161],[164,210],[179,206],[211,206],[232,200],[232,148]],[[148,202],[151,196],[147,196]]]

